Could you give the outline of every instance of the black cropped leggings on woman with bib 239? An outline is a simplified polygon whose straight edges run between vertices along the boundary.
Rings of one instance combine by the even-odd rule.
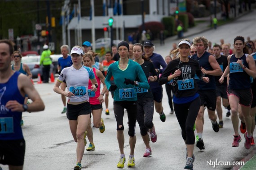
[[[186,144],[194,144],[194,122],[201,106],[200,98],[191,102],[177,104],[174,103],[174,111],[181,126],[181,135]]]

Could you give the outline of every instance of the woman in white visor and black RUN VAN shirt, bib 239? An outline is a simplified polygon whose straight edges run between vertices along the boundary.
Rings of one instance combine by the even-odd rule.
[[[174,110],[187,148],[187,161],[184,169],[193,170],[195,140],[193,127],[200,109],[199,88],[197,83],[194,83],[194,79],[195,74],[206,83],[209,82],[209,78],[203,75],[198,61],[189,57],[189,39],[182,39],[178,44],[178,48],[172,51],[172,53],[176,55],[178,51],[180,54],[177,56],[177,59],[172,60],[167,65],[162,76],[159,78],[159,85],[173,80]]]

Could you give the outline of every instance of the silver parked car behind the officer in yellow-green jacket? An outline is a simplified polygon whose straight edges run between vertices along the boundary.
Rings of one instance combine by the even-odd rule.
[[[41,79],[43,81],[43,66],[40,65],[40,55],[24,56],[22,57],[21,62],[28,65],[32,73],[32,78],[37,78],[38,73],[40,73]],[[49,76],[51,76],[52,72],[54,73],[53,64],[51,64]]]

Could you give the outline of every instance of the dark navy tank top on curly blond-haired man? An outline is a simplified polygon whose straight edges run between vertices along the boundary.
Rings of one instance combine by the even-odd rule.
[[[203,67],[205,70],[213,70],[211,64],[209,63],[209,56],[211,54],[205,51],[203,55],[199,58],[197,57],[197,54],[194,54],[191,56],[192,59],[196,59],[199,62],[199,66]],[[216,89],[216,84],[215,84],[215,76],[211,75],[205,75],[209,77],[210,82],[205,83],[201,79],[196,79],[197,85],[199,86],[199,90],[210,90],[210,89]]]

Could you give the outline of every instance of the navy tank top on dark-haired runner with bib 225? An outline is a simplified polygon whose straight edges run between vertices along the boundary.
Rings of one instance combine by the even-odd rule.
[[[240,60],[243,60],[243,65],[245,65],[247,68],[249,68],[249,65],[246,61],[246,57],[248,54],[244,54]],[[231,89],[249,89],[251,88],[251,79],[250,76],[243,70],[243,68],[240,69],[238,72],[233,72],[232,69],[234,69],[236,66],[236,62],[238,61],[238,58],[235,57],[235,54],[233,54],[230,58],[230,81],[229,81],[229,87]],[[237,67],[240,67],[238,64]]]

